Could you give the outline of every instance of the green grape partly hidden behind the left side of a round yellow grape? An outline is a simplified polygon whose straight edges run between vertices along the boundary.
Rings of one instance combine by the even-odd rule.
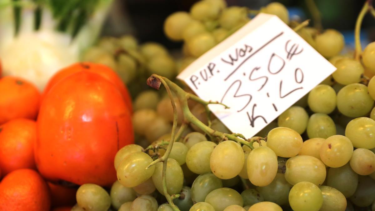
[[[210,157],[216,147],[213,142],[198,142],[186,154],[186,165],[194,173],[202,174],[211,172]]]

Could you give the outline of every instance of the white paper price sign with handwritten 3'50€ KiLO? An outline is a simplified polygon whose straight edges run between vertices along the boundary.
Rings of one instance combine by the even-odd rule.
[[[229,130],[252,137],[336,70],[275,15],[259,14],[177,76]]]

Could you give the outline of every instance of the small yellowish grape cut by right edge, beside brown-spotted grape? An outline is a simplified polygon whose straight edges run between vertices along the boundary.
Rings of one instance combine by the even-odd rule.
[[[375,171],[374,152],[358,148],[354,150],[350,159],[350,167],[359,175],[369,175]]]

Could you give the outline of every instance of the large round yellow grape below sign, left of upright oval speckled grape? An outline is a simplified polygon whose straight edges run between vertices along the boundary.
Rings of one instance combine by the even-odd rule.
[[[210,167],[218,178],[230,179],[241,172],[244,162],[245,157],[241,145],[227,140],[220,142],[212,151]]]

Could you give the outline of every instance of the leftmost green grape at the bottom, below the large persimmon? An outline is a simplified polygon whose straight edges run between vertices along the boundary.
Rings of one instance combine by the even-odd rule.
[[[106,211],[111,206],[111,197],[96,184],[83,184],[76,193],[77,204],[88,211]]]

